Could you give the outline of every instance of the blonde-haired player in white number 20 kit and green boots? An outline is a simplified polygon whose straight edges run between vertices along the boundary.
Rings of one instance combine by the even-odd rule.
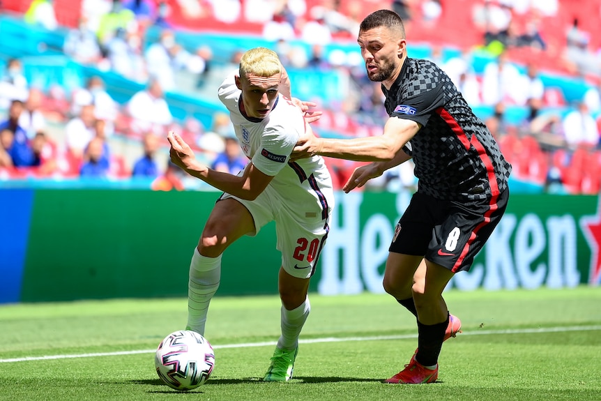
[[[250,159],[237,176],[202,165],[181,137],[175,133],[167,136],[176,165],[224,192],[208,217],[190,263],[187,328],[204,335],[208,305],[220,281],[222,253],[241,236],[254,236],[275,221],[276,247],[282,253],[278,275],[281,335],[264,380],[287,381],[310,312],[309,280],[328,236],[334,203],[332,181],[321,156],[290,160],[300,135],[310,130],[305,111],[313,104],[293,103],[288,75],[275,52],[263,47],[245,52],[239,75],[227,77],[219,88],[219,98]],[[319,113],[308,116],[307,122],[317,118]],[[261,255],[254,260],[243,255],[240,263],[249,274],[268,268],[261,263]]]

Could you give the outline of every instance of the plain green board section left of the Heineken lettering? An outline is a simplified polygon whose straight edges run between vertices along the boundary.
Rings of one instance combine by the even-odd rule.
[[[187,296],[192,252],[220,192],[37,190],[21,301]],[[274,294],[275,225],[223,257],[218,294]]]

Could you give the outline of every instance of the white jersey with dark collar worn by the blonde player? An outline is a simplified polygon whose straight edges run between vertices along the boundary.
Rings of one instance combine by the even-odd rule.
[[[305,122],[298,107],[280,94],[265,119],[247,119],[240,111],[240,89],[234,75],[219,88],[219,98],[230,113],[236,137],[244,154],[254,167],[273,176],[270,185],[291,204],[317,199],[316,189],[331,190],[332,182],[326,163],[321,156],[289,162],[290,153],[298,138],[305,132]]]

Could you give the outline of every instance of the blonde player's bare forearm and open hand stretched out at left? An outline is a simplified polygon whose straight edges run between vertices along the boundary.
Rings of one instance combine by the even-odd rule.
[[[169,156],[174,164],[191,176],[235,197],[248,200],[257,199],[273,179],[273,176],[268,176],[254,167],[252,162],[248,163],[242,176],[218,172],[199,162],[190,146],[173,131],[169,131],[167,140],[171,144]]]

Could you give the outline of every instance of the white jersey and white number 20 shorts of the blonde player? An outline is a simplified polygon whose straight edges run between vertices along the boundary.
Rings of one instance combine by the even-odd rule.
[[[330,173],[321,156],[289,161],[298,138],[305,132],[298,107],[280,95],[265,119],[247,119],[239,108],[241,94],[233,76],[219,88],[219,98],[229,109],[245,155],[273,179],[254,201],[234,198],[252,214],[255,233],[275,220],[282,266],[294,277],[310,278],[328,237],[328,220],[334,206]],[[232,196],[222,195],[228,197]]]

